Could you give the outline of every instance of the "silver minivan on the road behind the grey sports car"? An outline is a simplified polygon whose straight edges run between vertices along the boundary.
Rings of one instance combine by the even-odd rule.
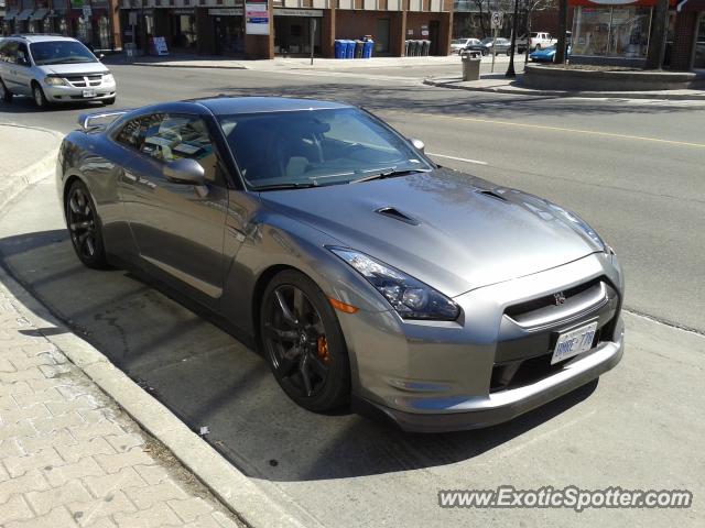
[[[116,82],[110,70],[75,38],[19,35],[0,43],[0,99],[29,96],[37,107],[58,102],[112,105]]]

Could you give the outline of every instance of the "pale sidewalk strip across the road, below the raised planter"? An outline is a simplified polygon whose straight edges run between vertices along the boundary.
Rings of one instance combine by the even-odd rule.
[[[705,100],[705,90],[658,90],[658,91],[564,91],[536,90],[521,85],[521,75],[507,79],[501,73],[481,76],[479,80],[464,81],[460,76],[433,77],[423,82],[429,86],[453,88],[467,91],[511,94],[514,96],[586,97],[618,99],[664,99],[674,101]]]

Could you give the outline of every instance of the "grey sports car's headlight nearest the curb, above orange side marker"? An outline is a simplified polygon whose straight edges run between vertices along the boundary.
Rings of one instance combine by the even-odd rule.
[[[404,319],[454,321],[460,308],[431,286],[355,250],[328,248],[362,275]]]

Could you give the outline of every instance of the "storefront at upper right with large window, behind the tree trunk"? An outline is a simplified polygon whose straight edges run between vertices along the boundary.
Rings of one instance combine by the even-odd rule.
[[[570,0],[575,8],[571,62],[642,67],[658,0]],[[705,0],[671,0],[663,66],[705,68]]]

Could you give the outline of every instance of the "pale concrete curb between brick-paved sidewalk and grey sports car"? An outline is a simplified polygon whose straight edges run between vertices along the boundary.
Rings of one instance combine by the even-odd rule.
[[[33,127],[23,128],[46,131]],[[58,135],[54,131],[47,132]],[[46,156],[46,158],[50,157],[53,166],[55,153]],[[23,183],[22,186],[18,186],[19,191],[14,196],[22,193],[30,183],[40,182],[46,176],[46,173],[39,177],[31,176],[34,167],[47,163],[46,158],[21,170],[24,176],[15,178],[13,175],[12,180]],[[274,503],[249,477],[193,432],[164,405],[116,367],[100,351],[74,334],[48,308],[10,276],[1,262],[0,288],[19,301],[21,306],[18,309],[23,317],[31,321],[47,341],[61,350],[140,427],[162,442],[225,507],[245,524],[253,528],[321,526],[312,518],[306,518],[305,521],[300,520]]]

